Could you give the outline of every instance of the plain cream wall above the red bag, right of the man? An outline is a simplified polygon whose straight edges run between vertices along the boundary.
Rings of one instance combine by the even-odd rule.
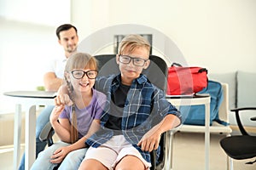
[[[170,37],[189,65],[205,66],[209,73],[256,71],[254,0],[78,0],[72,4],[73,22],[88,31],[84,37],[107,26],[150,26]]]

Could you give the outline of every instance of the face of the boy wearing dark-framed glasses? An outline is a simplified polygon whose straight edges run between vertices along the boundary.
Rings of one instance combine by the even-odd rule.
[[[124,57],[122,58],[122,56]],[[129,58],[131,58],[131,61],[130,63],[127,63],[126,61]],[[135,48],[131,53],[129,53],[128,49],[125,49],[121,56],[116,56],[116,62],[119,65],[122,83],[125,85],[131,85],[131,82],[140,76],[143,69],[148,68],[150,63],[150,60],[148,59],[148,50],[147,48]],[[139,65],[134,65],[134,63],[139,63]],[[143,63],[143,65],[141,65],[141,63]]]

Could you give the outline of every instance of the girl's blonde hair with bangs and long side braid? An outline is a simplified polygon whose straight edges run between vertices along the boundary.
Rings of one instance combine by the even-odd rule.
[[[76,53],[67,59],[67,64],[65,67],[65,80],[67,83],[69,98],[73,101],[72,105],[72,122],[70,128],[71,144],[75,143],[79,139],[79,132],[77,130],[77,116],[75,113],[75,103],[73,96],[73,86],[71,82],[67,81],[67,72],[73,71],[74,69],[90,69],[97,70],[97,60],[90,54]]]

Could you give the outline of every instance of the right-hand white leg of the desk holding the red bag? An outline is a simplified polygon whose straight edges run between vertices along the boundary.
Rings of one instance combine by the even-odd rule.
[[[210,169],[210,103],[206,104],[206,133],[205,133],[205,151],[206,151],[206,170]]]

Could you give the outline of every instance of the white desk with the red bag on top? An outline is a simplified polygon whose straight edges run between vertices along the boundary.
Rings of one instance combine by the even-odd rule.
[[[205,169],[209,170],[210,169],[210,102],[211,102],[211,97],[208,94],[203,94],[201,96],[193,96],[193,97],[185,97],[185,98],[170,98],[166,97],[172,103],[172,105],[205,105],[205,114],[206,114],[206,120],[205,120],[205,127],[206,127],[206,133],[205,133]],[[167,148],[167,158],[166,162],[170,162],[171,166],[169,163],[166,163],[166,170],[171,170],[172,169],[172,136],[173,131],[170,131],[167,133],[167,138],[170,140],[169,142],[166,142],[167,144],[169,143],[170,145]]]

